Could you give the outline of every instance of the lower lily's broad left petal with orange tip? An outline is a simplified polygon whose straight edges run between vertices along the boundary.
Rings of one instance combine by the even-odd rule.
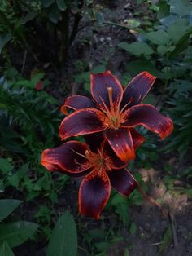
[[[46,149],[41,155],[41,165],[50,171],[81,174],[91,166],[85,155],[88,146],[78,141],[68,141],[57,148]]]

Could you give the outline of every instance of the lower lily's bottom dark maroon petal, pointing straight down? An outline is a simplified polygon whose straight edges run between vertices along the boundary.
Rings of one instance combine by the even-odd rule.
[[[94,170],[82,180],[79,190],[79,212],[98,219],[111,193],[110,180],[105,171]]]

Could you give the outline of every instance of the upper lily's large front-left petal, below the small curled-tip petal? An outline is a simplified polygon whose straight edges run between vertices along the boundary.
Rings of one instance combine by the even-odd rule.
[[[106,129],[105,115],[96,108],[85,108],[65,117],[59,127],[61,139],[93,134]]]

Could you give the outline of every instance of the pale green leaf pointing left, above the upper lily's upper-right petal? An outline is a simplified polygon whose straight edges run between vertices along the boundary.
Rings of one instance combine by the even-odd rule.
[[[146,42],[133,42],[131,44],[120,42],[118,46],[125,51],[129,51],[132,55],[151,55],[154,53],[151,46],[148,46]]]

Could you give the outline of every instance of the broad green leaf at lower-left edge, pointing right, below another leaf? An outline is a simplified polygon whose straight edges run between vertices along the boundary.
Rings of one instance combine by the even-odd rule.
[[[27,221],[5,223],[0,225],[0,245],[4,241],[12,247],[23,244],[37,231],[38,225]]]

